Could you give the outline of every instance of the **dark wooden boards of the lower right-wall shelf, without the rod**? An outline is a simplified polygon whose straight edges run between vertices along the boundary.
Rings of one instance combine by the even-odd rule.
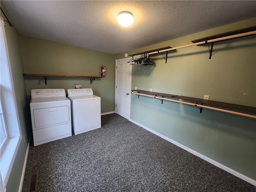
[[[172,95],[172,94],[166,94],[166,93],[158,93],[158,92],[150,92],[150,91],[145,91],[145,90],[131,90],[132,92],[136,93],[143,93],[143,94],[150,94],[154,96],[162,96],[162,97],[168,97],[174,100],[184,100],[188,102],[193,102],[195,104],[203,104],[205,106],[219,106],[223,108],[233,108],[237,110],[245,110],[245,111],[250,111],[250,112],[256,112],[255,107],[250,107],[250,106],[244,106],[244,105],[237,105],[237,104],[232,104],[232,103],[225,103],[225,102],[218,102],[218,101],[212,101],[212,100],[204,100],[204,99],[199,99],[199,98],[193,98],[193,97],[186,97],[186,96],[178,96],[178,95]]]

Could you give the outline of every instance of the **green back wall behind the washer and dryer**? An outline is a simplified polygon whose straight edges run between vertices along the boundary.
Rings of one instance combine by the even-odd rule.
[[[106,76],[92,84],[90,78],[48,77],[45,85],[44,77],[26,77],[28,100],[31,89],[63,88],[67,94],[75,83],[82,83],[82,88],[92,88],[101,97],[102,113],[114,111],[114,55],[27,36],[20,36],[20,47],[25,74],[100,76],[101,66],[106,67]]]

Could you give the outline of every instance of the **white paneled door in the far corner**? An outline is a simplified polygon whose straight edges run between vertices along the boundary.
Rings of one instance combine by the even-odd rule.
[[[116,108],[118,115],[130,118],[132,65],[131,58],[116,59]]]

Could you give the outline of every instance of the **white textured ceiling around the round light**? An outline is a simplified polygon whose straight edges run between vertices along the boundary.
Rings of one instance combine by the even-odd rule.
[[[256,1],[0,1],[20,35],[111,54],[256,16]],[[121,11],[134,15],[119,26]]]

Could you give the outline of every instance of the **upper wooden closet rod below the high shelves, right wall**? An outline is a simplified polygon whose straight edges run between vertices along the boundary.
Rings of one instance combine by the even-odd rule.
[[[185,48],[185,47],[190,47],[190,46],[195,46],[195,45],[208,44],[208,43],[213,43],[213,42],[217,42],[217,41],[229,40],[229,39],[234,39],[234,38],[239,38],[239,37],[244,37],[244,36],[250,36],[250,35],[256,35],[256,31],[251,31],[251,32],[246,32],[246,33],[241,33],[241,34],[236,34],[236,35],[230,35],[230,36],[220,37],[220,38],[216,38],[216,39],[212,39],[212,40],[201,41],[201,42],[192,43],[192,44],[183,45],[183,46],[178,46],[178,47],[174,47],[174,48],[154,51],[154,52],[150,52],[148,54],[151,55],[151,54],[156,54],[156,53],[162,53],[162,52],[172,51],[172,50],[176,50],[176,49],[180,49],[180,48]]]

